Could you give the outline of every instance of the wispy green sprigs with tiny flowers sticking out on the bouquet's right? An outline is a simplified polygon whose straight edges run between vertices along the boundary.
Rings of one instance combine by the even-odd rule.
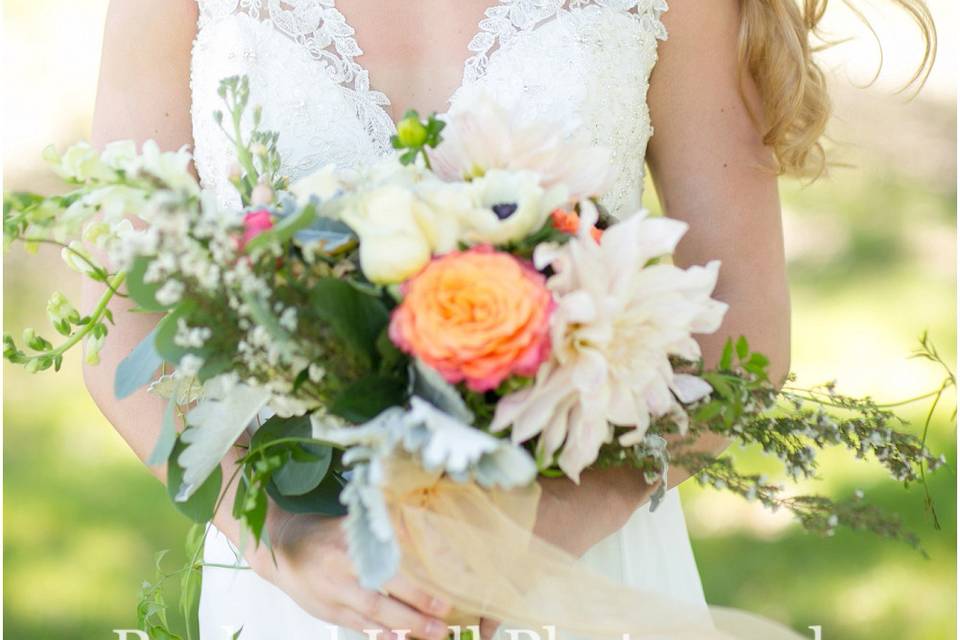
[[[683,468],[703,486],[729,491],[749,501],[777,510],[787,509],[808,531],[832,535],[838,527],[866,530],[896,538],[919,548],[919,539],[902,527],[899,517],[868,504],[857,492],[852,499],[834,501],[819,495],[797,495],[764,474],[741,471],[734,457],[693,448],[701,436],[712,433],[742,447],[759,447],[778,460],[793,482],[818,477],[818,454],[842,447],[857,459],[873,459],[905,486],[924,487],[925,504],[939,528],[939,519],[927,486],[927,473],[945,464],[926,445],[930,421],[944,393],[955,386],[955,376],[926,335],[916,354],[940,365],[945,378],[938,390],[892,404],[840,394],[834,384],[809,389],[782,389],[767,379],[766,359],[750,351],[745,339],[729,342],[716,371],[699,371],[714,388],[706,401],[688,407],[690,422],[681,430],[666,417],[651,425],[640,444],[616,444],[601,450],[601,468],[628,465],[641,470],[649,484],[659,483],[653,504],[662,497],[667,471]],[[701,368],[697,365],[696,368]],[[932,399],[922,437],[906,430],[907,424],[893,409]]]

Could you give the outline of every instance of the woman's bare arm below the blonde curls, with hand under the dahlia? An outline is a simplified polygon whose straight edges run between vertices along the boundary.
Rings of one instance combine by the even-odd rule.
[[[671,0],[664,15],[669,40],[650,81],[655,135],[647,160],[665,213],[690,225],[676,259],[682,266],[722,262],[715,297],[730,305],[721,329],[701,336],[707,363],[728,337],[744,335],[770,358],[770,375],[789,369],[790,301],[780,201],[772,155],[740,94],[737,0]],[[759,110],[755,88],[745,87]],[[714,452],[726,443],[704,437]],[[688,477],[672,470],[670,486]],[[583,553],[620,526],[652,488],[636,472],[585,474],[582,486],[544,485],[538,532]]]

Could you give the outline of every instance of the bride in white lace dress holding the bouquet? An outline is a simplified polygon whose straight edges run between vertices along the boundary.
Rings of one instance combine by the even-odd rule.
[[[895,2],[930,42],[922,0]],[[482,87],[520,119],[609,147],[615,180],[604,204],[616,216],[640,207],[649,166],[666,214],[690,224],[678,261],[723,261],[717,297],[730,312],[703,338],[706,359],[743,334],[783,376],[790,310],[777,176],[821,173],[829,115],[809,44],[826,0],[800,4],[672,0],[668,11],[665,0],[115,0],[94,138],[191,145],[204,186],[235,204],[230,151],[211,115],[226,76],[250,76],[252,102],[264,107],[265,128],[280,132],[291,179],[331,162],[375,160],[389,153],[406,108],[445,113]],[[89,302],[99,292],[88,289]],[[122,322],[102,365],[87,371],[88,386],[145,459],[163,403],[146,393],[117,401],[112,385],[155,319],[115,317]],[[671,486],[683,480],[677,474]],[[641,507],[655,487],[631,470],[587,473],[576,491],[564,481],[543,488],[540,536],[615,581],[705,608],[675,489],[651,513]],[[218,565],[204,570],[205,640],[241,627],[244,640],[366,629],[446,636],[446,603],[402,581],[390,595],[357,584],[336,519],[271,505],[273,556],[244,547],[229,513],[215,524],[205,549]],[[235,562],[247,570],[222,566]],[[484,635],[496,624],[485,621]]]

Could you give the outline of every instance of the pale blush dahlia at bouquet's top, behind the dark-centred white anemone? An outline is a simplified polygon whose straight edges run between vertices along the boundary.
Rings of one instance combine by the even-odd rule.
[[[493,169],[532,171],[544,187],[563,185],[578,200],[604,193],[610,182],[608,149],[555,123],[523,122],[479,87],[458,93],[443,142],[429,153],[445,180],[477,178]]]

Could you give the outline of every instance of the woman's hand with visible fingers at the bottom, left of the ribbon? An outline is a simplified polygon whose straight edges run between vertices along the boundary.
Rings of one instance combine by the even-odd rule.
[[[277,527],[273,555],[261,546],[250,565],[304,611],[330,624],[357,631],[409,630],[410,636],[426,640],[446,638],[447,625],[441,620],[449,613],[446,603],[402,577],[387,585],[390,595],[360,586],[341,524],[341,518],[290,516]]]

